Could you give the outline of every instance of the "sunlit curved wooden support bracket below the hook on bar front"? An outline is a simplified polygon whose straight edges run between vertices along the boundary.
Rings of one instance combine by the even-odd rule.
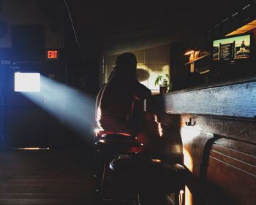
[[[184,147],[184,164],[189,169],[186,182],[192,194],[192,204],[202,204],[204,201],[204,185],[208,152],[214,142],[214,134],[199,131],[195,128],[181,128],[181,138]]]

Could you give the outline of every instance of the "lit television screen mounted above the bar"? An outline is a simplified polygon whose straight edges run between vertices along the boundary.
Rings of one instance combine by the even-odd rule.
[[[249,58],[250,45],[251,36],[249,34],[214,40],[213,61]]]

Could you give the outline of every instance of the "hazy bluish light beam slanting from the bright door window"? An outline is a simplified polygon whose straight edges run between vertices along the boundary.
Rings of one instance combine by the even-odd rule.
[[[22,93],[79,134],[93,132],[94,100],[90,96],[42,75],[39,93]]]

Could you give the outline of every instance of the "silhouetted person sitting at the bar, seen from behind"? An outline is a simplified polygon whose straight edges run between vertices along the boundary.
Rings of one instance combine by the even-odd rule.
[[[113,133],[137,135],[138,126],[129,121],[133,102],[151,96],[151,90],[136,79],[136,58],[132,53],[119,55],[109,82],[97,96],[97,123]]]

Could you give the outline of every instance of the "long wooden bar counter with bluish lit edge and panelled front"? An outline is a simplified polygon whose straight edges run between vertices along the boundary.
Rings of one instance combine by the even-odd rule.
[[[186,205],[256,204],[256,77],[155,95],[144,109],[165,145],[182,146]]]

